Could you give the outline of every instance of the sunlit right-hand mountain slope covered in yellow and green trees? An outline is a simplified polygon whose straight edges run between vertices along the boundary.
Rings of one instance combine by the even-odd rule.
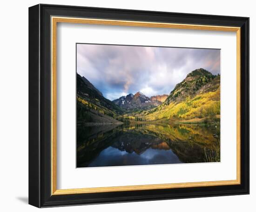
[[[200,68],[189,73],[158,107],[141,113],[145,120],[216,118],[220,115],[220,76]]]

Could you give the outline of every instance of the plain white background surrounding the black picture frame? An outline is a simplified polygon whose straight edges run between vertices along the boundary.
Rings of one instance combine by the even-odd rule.
[[[181,13],[250,17],[250,38],[256,37],[255,5],[251,0],[23,0],[2,1],[0,7],[0,210],[35,211],[28,199],[28,7],[38,3],[112,7]],[[44,211],[255,211],[256,199],[256,74],[250,39],[250,195],[151,202],[47,208]],[[253,96],[254,95],[254,96]]]

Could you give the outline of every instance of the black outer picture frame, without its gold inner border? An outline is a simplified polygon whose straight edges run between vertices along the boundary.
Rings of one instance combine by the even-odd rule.
[[[241,27],[241,184],[51,195],[51,16]],[[249,194],[249,18],[45,4],[29,8],[30,205],[52,207],[239,194]]]

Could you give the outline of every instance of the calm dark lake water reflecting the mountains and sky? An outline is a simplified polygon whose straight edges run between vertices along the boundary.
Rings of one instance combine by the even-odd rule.
[[[220,161],[217,126],[136,124],[77,127],[77,167]]]

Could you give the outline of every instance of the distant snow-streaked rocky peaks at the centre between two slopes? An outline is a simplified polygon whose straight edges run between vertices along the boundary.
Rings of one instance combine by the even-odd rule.
[[[151,101],[150,98],[141,92],[137,92],[135,95],[130,93],[127,96],[121,96],[119,99],[113,100],[113,103],[129,112],[149,110],[161,105],[160,101]]]

